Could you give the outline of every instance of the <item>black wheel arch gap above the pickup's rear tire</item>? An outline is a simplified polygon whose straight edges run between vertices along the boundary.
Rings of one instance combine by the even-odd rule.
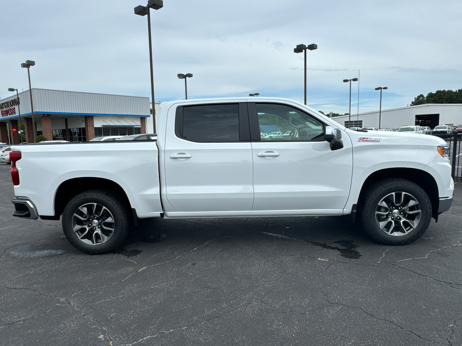
[[[63,181],[59,185],[55,194],[55,215],[51,217],[47,216],[46,219],[59,220],[67,203],[69,203],[74,196],[77,196],[80,192],[92,189],[104,189],[116,193],[116,195],[121,197],[123,202],[127,204],[128,208],[131,209],[127,193],[124,191],[122,186],[117,184],[115,181],[95,177],[72,178]],[[41,216],[41,218],[43,217]]]

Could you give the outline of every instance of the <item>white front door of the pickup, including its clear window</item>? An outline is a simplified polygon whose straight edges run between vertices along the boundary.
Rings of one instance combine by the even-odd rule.
[[[353,171],[348,135],[343,133],[343,149],[331,150],[323,139],[325,125],[316,117],[284,104],[248,106],[253,210],[336,209],[333,213],[340,213],[348,199]]]

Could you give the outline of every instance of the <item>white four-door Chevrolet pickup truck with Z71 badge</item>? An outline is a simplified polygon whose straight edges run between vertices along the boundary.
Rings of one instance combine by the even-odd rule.
[[[157,141],[18,145],[11,162],[13,215],[62,215],[88,253],[114,251],[151,217],[351,215],[377,242],[406,244],[454,191],[444,140],[352,131],[281,98],[170,101]]]

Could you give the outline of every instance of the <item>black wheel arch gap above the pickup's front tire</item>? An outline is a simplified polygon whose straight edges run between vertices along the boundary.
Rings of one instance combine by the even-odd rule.
[[[438,185],[432,175],[424,170],[417,168],[385,168],[371,173],[364,181],[361,191],[359,192],[358,205],[364,198],[364,193],[369,185],[380,179],[385,178],[401,178],[412,181],[414,184],[419,185],[430,198],[432,202],[432,215],[436,217],[438,214],[439,197],[438,197]]]

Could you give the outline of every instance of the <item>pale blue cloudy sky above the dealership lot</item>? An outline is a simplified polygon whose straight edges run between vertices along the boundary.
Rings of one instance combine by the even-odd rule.
[[[146,0],[144,0],[146,1]],[[8,88],[151,96],[147,16],[139,0],[0,0],[0,98]],[[8,14],[8,15],[6,15]],[[406,107],[419,94],[462,88],[461,1],[164,0],[151,10],[156,101],[261,96],[347,113]],[[352,82],[352,114],[358,82]]]

